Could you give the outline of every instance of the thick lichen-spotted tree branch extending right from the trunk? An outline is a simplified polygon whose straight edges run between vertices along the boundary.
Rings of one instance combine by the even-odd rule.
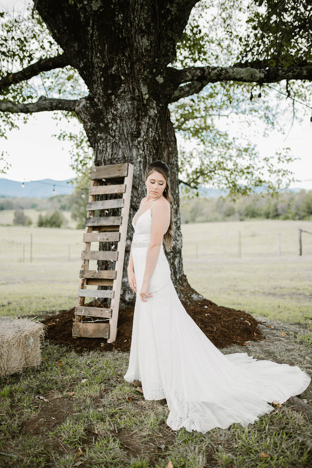
[[[174,91],[171,102],[199,93],[208,83],[217,81],[241,81],[244,83],[276,83],[282,80],[308,80],[312,81],[312,64],[308,66],[292,66],[291,68],[266,68],[257,69],[250,67],[220,67],[220,66],[198,66],[184,68],[183,70],[172,69],[174,80],[178,86]],[[191,82],[191,83],[189,83]]]

